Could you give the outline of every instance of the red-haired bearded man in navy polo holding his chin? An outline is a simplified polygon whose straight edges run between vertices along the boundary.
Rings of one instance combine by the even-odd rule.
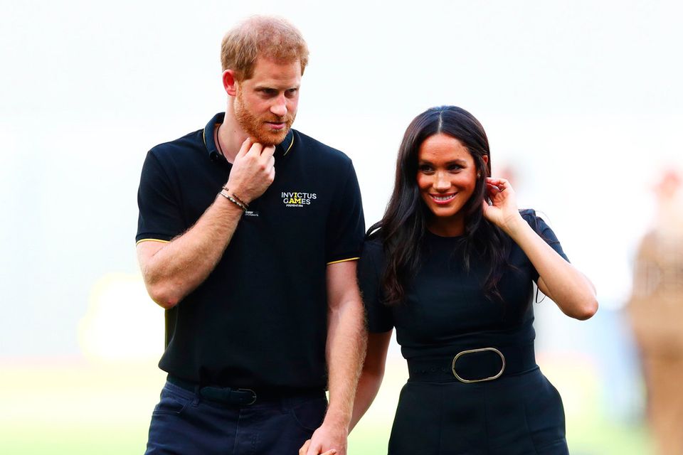
[[[225,114],[147,154],[137,253],[169,373],[149,454],[346,453],[364,221],[351,160],[290,129],[307,59],[286,21],[241,23]]]

